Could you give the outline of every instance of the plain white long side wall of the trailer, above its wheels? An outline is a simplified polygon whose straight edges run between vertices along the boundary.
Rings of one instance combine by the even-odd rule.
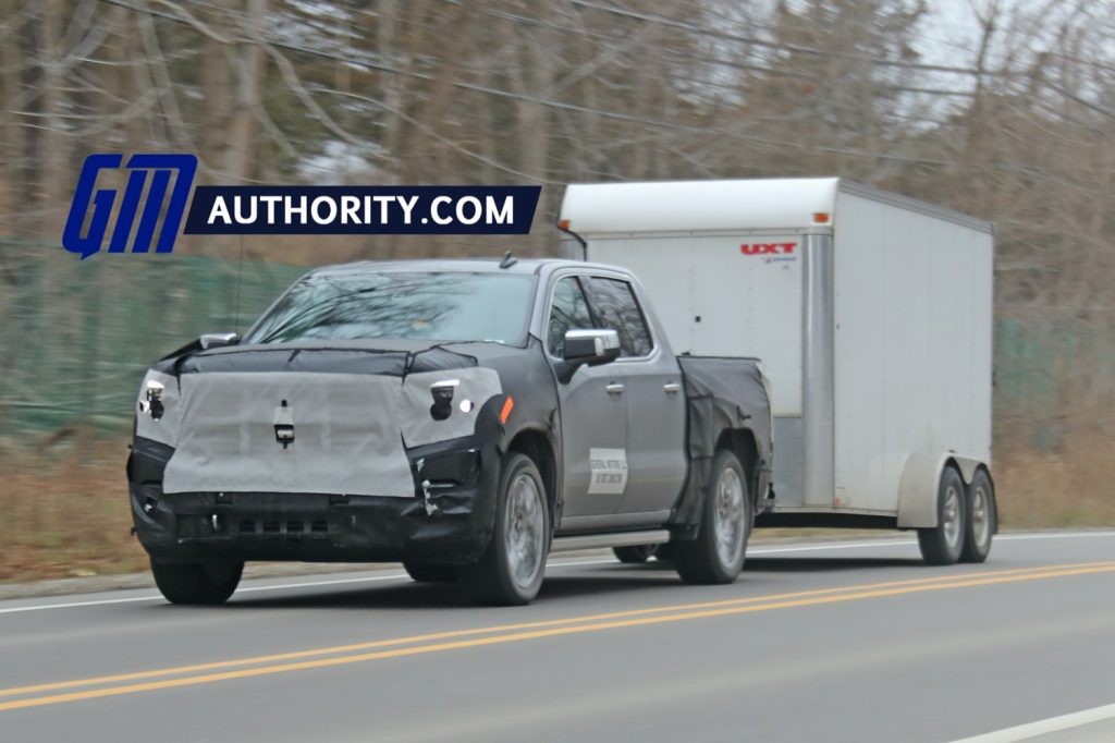
[[[855,192],[836,214],[833,504],[889,512],[912,452],[991,462],[991,234]]]

